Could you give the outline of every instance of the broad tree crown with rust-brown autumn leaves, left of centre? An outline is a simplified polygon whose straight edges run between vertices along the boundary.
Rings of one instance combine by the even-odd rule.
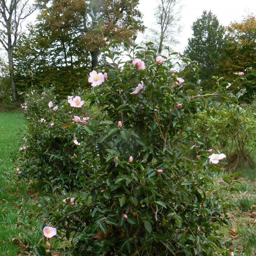
[[[100,49],[104,47],[102,36],[93,31],[97,28],[96,20],[102,19],[101,27],[107,41],[129,41],[132,30],[127,28],[134,0],[53,0],[40,5],[39,26],[48,34],[63,54],[65,65],[73,65],[74,61],[86,54],[91,56],[91,68],[97,67]],[[136,1],[137,2],[137,1]],[[89,8],[90,4],[90,8]],[[92,15],[93,13],[93,15]],[[141,13],[134,5],[133,18],[135,30],[143,30],[140,25]]]

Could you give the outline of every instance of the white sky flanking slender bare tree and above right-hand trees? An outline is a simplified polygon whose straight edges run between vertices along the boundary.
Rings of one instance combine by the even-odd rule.
[[[192,36],[192,23],[201,17],[204,10],[212,11],[220,21],[220,24],[227,26],[231,21],[240,21],[243,16],[249,13],[256,15],[256,0],[182,0],[180,24],[183,30],[177,40],[180,44],[174,47],[175,51],[183,52],[188,44],[188,38]],[[154,22],[154,8],[156,0],[140,0],[139,9],[143,13],[143,21],[146,27],[151,27]]]

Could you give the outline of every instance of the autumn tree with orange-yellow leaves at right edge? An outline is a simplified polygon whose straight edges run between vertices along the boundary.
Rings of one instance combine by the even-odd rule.
[[[252,14],[241,22],[232,22],[226,28],[223,55],[219,63],[218,76],[224,76],[232,82],[236,75],[234,72],[244,72],[247,67],[256,69],[256,19]],[[246,84],[247,93],[243,99],[251,102],[256,94],[255,72],[250,73]]]

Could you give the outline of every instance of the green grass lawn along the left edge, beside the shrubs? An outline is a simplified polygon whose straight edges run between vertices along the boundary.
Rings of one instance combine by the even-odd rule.
[[[16,181],[13,153],[19,150],[18,141],[26,133],[23,113],[0,113],[0,255],[16,256],[21,249],[17,239],[24,244],[35,243],[42,237],[36,223],[29,224],[19,215],[35,204],[23,182]],[[38,199],[37,199],[38,200]],[[19,235],[20,234],[20,235]],[[13,239],[13,240],[12,240]],[[24,247],[23,250],[26,248]]]

